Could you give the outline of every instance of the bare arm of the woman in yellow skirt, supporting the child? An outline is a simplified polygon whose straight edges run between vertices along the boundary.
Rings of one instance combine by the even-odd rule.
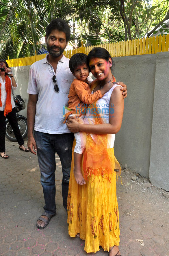
[[[73,119],[69,119],[71,123],[66,123],[68,129],[73,132],[84,131],[87,133],[95,134],[111,134],[118,133],[122,123],[123,109],[124,109],[124,99],[119,87],[115,87],[110,98],[109,103],[109,123],[107,124],[81,124]],[[112,107],[113,106],[113,107]],[[114,113],[113,112],[114,109]]]

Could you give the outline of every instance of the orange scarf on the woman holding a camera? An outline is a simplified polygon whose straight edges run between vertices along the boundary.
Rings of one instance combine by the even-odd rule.
[[[6,102],[5,102],[5,109],[4,109],[4,116],[12,111],[12,104],[11,104],[11,80],[8,76],[5,76],[5,90],[7,93]],[[0,83],[0,107],[2,107],[1,102],[1,83]]]

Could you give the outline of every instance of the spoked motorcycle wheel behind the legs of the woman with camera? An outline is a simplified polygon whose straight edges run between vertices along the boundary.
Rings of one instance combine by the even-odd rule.
[[[23,119],[21,117],[18,117],[17,120],[18,120],[19,130],[20,130],[21,135],[22,135],[22,137],[24,139],[27,136],[27,120]],[[17,141],[16,137],[14,135],[14,132],[12,130],[12,127],[10,126],[9,121],[6,121],[6,133],[5,133],[5,136],[10,141]]]

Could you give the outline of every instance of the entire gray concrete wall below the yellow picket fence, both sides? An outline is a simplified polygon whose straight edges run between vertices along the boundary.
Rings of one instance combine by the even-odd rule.
[[[166,190],[169,190],[168,60],[168,52],[114,58],[116,80],[123,81],[128,88],[122,127],[115,137],[115,155],[123,166],[127,164],[142,176],[150,176],[153,185]],[[20,94],[26,105],[29,67],[12,68],[18,83],[15,94]],[[26,110],[20,113],[26,116]]]

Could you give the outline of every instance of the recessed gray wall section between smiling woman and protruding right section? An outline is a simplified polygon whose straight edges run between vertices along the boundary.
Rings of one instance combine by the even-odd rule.
[[[120,132],[115,136],[115,155],[122,165],[149,176],[156,55],[114,59],[116,80],[128,88]]]

